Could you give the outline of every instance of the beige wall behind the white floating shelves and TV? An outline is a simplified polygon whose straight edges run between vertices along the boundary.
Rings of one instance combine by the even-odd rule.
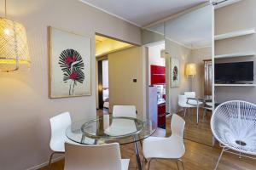
[[[219,8],[215,11],[215,31],[221,34],[229,31],[239,31],[256,27],[256,1],[243,0],[230,6]],[[230,54],[237,52],[256,52],[256,34],[225,39],[215,42],[215,54]],[[237,59],[215,59],[215,62],[230,61],[254,61],[254,74],[256,72],[256,58],[244,57]],[[254,83],[256,79],[254,77]],[[216,87],[216,102],[224,102],[230,99],[241,99],[256,103],[256,88],[244,87]]]

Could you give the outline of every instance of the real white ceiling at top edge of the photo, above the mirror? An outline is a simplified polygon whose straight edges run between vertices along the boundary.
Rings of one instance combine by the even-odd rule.
[[[80,0],[136,26],[146,26],[208,0]]]

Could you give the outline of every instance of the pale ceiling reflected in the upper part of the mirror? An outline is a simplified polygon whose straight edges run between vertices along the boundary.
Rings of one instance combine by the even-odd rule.
[[[188,48],[203,48],[212,45],[212,8],[199,8],[165,24],[148,28],[164,35],[169,40]]]

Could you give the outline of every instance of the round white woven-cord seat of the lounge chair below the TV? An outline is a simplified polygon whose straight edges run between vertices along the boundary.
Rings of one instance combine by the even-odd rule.
[[[240,100],[218,105],[212,114],[211,129],[224,146],[256,155],[256,105]]]

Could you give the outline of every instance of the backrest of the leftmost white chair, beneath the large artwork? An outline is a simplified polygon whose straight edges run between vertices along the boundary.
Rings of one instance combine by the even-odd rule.
[[[67,127],[71,125],[69,112],[64,112],[57,116],[53,116],[49,119],[49,122],[51,129],[51,137],[49,142],[50,149],[55,150],[55,144],[62,144],[62,148],[64,148],[64,142],[66,139],[65,131]]]

